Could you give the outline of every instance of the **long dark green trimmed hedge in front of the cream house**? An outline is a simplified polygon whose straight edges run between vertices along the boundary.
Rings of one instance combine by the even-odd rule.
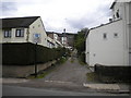
[[[35,62],[35,48],[37,63],[56,60],[66,53],[64,48],[50,49],[35,46],[31,42],[2,44],[2,64],[4,65],[29,65]]]

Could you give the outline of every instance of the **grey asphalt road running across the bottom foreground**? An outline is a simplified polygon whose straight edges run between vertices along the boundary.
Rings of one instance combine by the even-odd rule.
[[[61,91],[51,89],[39,89],[28,87],[17,87],[3,85],[2,96],[119,96],[118,94],[104,94],[104,93],[75,93],[75,91]],[[122,94],[121,96],[128,96]]]

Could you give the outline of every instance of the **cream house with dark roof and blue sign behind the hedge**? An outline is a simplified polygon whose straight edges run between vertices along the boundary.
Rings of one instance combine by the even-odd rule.
[[[47,47],[47,34],[40,16],[1,19],[0,42],[36,42]]]

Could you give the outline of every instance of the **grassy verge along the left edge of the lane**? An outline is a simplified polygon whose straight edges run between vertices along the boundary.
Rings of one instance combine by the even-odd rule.
[[[68,60],[68,58],[60,58],[56,64],[51,65],[50,68],[43,70],[40,72],[38,72],[37,76],[35,76],[35,74],[32,74],[29,76],[27,76],[26,78],[28,79],[34,79],[34,78],[44,78],[45,76],[47,76],[49,73],[51,73],[52,71],[56,70],[57,66],[63,64],[66,61]]]

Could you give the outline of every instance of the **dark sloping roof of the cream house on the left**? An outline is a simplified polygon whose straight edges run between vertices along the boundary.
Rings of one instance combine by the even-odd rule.
[[[40,16],[8,17],[2,20],[2,28],[28,27]]]

